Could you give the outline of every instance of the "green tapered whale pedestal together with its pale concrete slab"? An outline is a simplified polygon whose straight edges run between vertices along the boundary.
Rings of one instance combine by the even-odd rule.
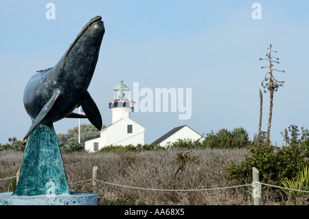
[[[0,205],[98,205],[98,196],[69,192],[54,126],[39,124],[27,142],[19,183],[13,193],[0,193]]]

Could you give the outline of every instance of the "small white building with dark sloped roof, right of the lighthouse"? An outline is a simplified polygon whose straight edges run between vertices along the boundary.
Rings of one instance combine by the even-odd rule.
[[[203,140],[204,138],[202,135],[198,134],[198,132],[185,125],[173,128],[165,135],[159,137],[159,139],[152,142],[151,145],[160,145],[165,147],[168,145],[168,143],[174,143],[176,141],[179,141],[179,139],[190,139],[192,141],[196,141],[198,139]]]

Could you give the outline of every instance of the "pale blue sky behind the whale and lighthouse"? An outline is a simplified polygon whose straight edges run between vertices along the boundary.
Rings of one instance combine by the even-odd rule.
[[[56,6],[48,20],[45,5]],[[253,20],[251,5],[262,6]],[[260,61],[273,44],[280,58],[276,73],[284,87],[275,93],[271,140],[290,124],[309,128],[309,1],[0,1],[0,143],[22,139],[31,120],[23,107],[23,89],[39,69],[53,67],[85,23],[101,15],[106,32],[89,87],[111,124],[108,100],[120,78],[133,89],[192,88],[192,117],[176,113],[133,113],[151,143],[170,129],[187,124],[200,134],[242,126],[258,132],[259,89],[266,73]],[[142,97],[140,97],[142,98]],[[268,120],[269,93],[263,94],[263,123]],[[82,122],[89,124],[88,120]],[[78,119],[54,124],[57,133]]]

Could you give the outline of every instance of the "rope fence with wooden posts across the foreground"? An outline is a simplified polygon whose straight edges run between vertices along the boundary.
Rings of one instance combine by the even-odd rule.
[[[19,172],[17,172],[16,176],[11,176],[8,178],[0,178],[0,181],[4,181],[4,180],[8,180],[11,178],[16,178],[16,184],[19,181],[19,176],[20,176],[20,172],[21,170],[19,169]],[[89,178],[87,180],[84,181],[78,181],[78,182],[73,182],[73,183],[69,183],[69,184],[75,184],[75,183],[84,183],[84,182],[88,182],[88,181],[92,181],[92,185],[95,187],[97,185],[97,182],[99,183],[104,183],[107,185],[113,185],[113,186],[117,186],[117,187],[125,187],[125,188],[129,188],[129,189],[141,189],[141,190],[150,190],[150,191],[160,191],[160,192],[200,192],[200,191],[209,191],[209,190],[218,190],[218,189],[231,189],[231,188],[236,188],[236,187],[246,187],[246,186],[251,186],[253,187],[253,192],[252,192],[252,196],[254,198],[254,205],[260,205],[260,199],[261,199],[261,194],[262,194],[262,185],[266,185],[269,187],[276,187],[279,189],[288,189],[291,191],[296,191],[296,192],[306,192],[309,193],[309,191],[306,190],[301,190],[301,189],[292,189],[292,188],[287,188],[287,187],[281,187],[281,186],[277,186],[277,185],[270,185],[270,184],[266,184],[266,183],[261,183],[259,180],[259,172],[256,168],[252,168],[252,172],[253,172],[253,182],[250,184],[245,184],[245,185],[233,185],[233,186],[229,186],[229,187],[218,187],[218,188],[208,188],[208,189],[154,189],[154,188],[144,188],[144,187],[134,187],[134,186],[129,186],[129,185],[120,185],[120,184],[116,184],[116,183],[108,183],[105,181],[100,181],[98,180],[98,166],[93,166],[93,178]]]

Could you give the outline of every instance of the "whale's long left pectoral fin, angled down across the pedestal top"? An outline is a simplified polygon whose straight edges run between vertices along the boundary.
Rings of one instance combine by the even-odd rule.
[[[33,132],[33,130],[36,128],[36,126],[38,126],[38,124],[40,124],[40,122],[44,119],[44,117],[47,115],[49,110],[54,106],[54,103],[56,102],[57,98],[59,97],[60,92],[61,92],[60,90],[55,90],[54,91],[52,97],[45,104],[45,106],[43,106],[43,108],[41,109],[40,113],[38,113],[38,115],[36,116],[36,119],[34,119],[34,121],[32,122],[32,125],[31,125],[30,129],[28,130],[28,132],[25,135],[25,137],[23,137],[24,140],[27,139],[27,137],[29,137],[31,132]]]

